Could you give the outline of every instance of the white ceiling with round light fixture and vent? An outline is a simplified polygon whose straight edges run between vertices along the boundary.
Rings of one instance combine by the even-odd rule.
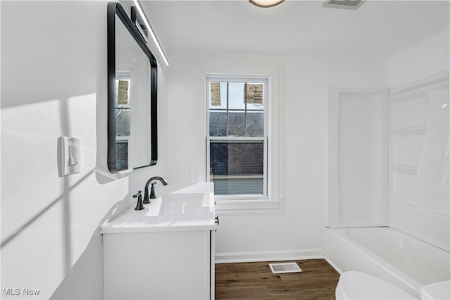
[[[449,1],[371,1],[359,9],[287,0],[141,1],[163,49],[390,57],[450,26]]]

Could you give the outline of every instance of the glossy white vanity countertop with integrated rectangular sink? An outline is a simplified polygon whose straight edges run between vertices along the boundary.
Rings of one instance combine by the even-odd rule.
[[[102,234],[214,230],[214,185],[202,182],[152,200],[142,211],[135,205],[101,226]]]

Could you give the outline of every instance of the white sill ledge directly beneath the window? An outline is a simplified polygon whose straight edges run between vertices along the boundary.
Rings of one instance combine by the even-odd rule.
[[[216,201],[216,215],[259,215],[282,212],[282,201],[270,199],[243,199]]]

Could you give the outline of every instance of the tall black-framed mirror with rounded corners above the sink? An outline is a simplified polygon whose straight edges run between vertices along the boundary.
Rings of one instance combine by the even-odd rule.
[[[107,31],[108,168],[121,173],[157,161],[157,64],[118,2],[108,4]]]

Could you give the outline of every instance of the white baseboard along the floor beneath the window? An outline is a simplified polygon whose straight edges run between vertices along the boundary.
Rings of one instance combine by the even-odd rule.
[[[215,263],[252,263],[255,261],[298,261],[324,258],[324,249],[286,251],[249,251],[215,254]]]

